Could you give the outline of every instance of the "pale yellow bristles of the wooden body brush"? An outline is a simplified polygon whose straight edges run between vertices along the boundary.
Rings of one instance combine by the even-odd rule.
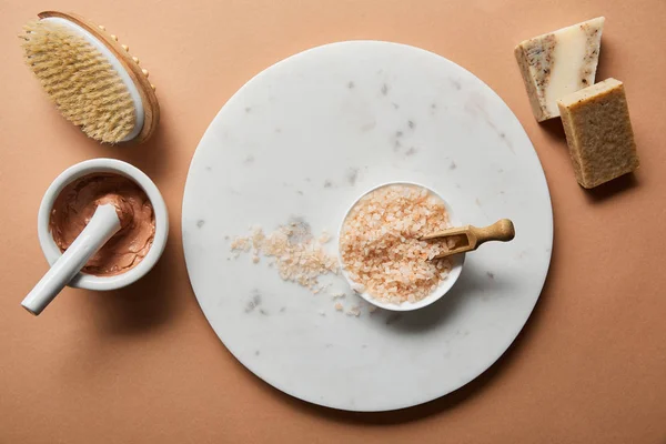
[[[23,29],[26,62],[67,120],[105,143],[132,132],[130,92],[99,50],[59,23],[33,21]]]

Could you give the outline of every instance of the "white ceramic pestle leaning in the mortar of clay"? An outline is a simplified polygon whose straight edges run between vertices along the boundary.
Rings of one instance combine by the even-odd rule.
[[[120,228],[115,206],[110,203],[99,205],[81,234],[28,293],[21,305],[36,316],[40,314]]]

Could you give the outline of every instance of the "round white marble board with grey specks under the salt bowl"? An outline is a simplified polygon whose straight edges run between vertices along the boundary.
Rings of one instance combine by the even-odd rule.
[[[334,234],[359,194],[389,181],[432,188],[464,223],[509,218],[516,239],[468,254],[427,309],[370,314],[347,291],[359,317],[230,253],[225,235],[291,216]],[[183,201],[192,286],[225,346],[275,387],[352,411],[416,405],[484,372],[527,321],[552,241],[544,173],[511,110],[446,59],[385,42],[315,48],[248,82],[201,140]]]

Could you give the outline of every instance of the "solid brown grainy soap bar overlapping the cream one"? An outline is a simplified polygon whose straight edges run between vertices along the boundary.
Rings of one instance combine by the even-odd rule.
[[[624,85],[607,79],[557,101],[578,183],[594,188],[638,168]]]

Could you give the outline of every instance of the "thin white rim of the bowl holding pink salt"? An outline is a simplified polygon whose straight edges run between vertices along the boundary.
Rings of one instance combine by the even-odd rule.
[[[455,216],[455,213],[453,212],[448,202],[446,202],[446,200],[444,198],[442,198],[442,195],[440,193],[437,193],[430,186],[425,186],[425,185],[422,185],[421,183],[414,183],[414,182],[390,182],[390,183],[383,183],[379,186],[375,186],[375,188],[364,192],[363,194],[361,194],[359,196],[359,199],[356,199],[354,201],[354,203],[352,203],[352,205],[346,211],[346,213],[340,224],[339,236],[337,236],[339,240],[342,239],[342,230],[344,228],[344,221],[346,220],[346,218],[350,214],[350,212],[352,211],[352,209],[356,205],[356,203],[364,195],[372,193],[373,191],[375,191],[380,188],[390,186],[390,185],[414,185],[414,186],[421,186],[421,188],[426,189],[427,191],[433,193],[435,196],[437,196],[444,203],[444,206],[446,208],[446,212],[448,213],[448,222],[451,223],[451,225],[452,226],[461,226],[460,220],[457,220],[457,218]],[[337,260],[340,261],[340,269],[342,270],[342,275],[347,280],[350,286],[353,289],[355,285],[357,285],[357,283],[352,281],[352,279],[349,276],[349,274],[344,268],[344,262],[342,261],[342,254],[340,252],[340,243],[337,245]],[[442,281],[442,283],[435,289],[435,291],[433,291],[430,295],[425,296],[421,301],[416,301],[416,302],[406,301],[401,304],[394,304],[394,303],[381,302],[381,301],[374,299],[373,296],[371,296],[370,294],[367,294],[366,292],[359,293],[359,294],[361,295],[361,297],[363,297],[371,304],[373,304],[380,309],[384,309],[384,310],[391,310],[391,311],[395,311],[395,312],[407,312],[407,311],[412,311],[412,310],[423,309],[424,306],[427,306],[427,305],[434,303],[435,301],[437,301],[440,297],[445,295],[453,287],[453,285],[460,278],[461,272],[463,271],[464,263],[465,263],[465,254],[464,253],[452,256],[451,258],[452,266],[451,266],[451,272],[448,272],[448,276],[444,281]]]

